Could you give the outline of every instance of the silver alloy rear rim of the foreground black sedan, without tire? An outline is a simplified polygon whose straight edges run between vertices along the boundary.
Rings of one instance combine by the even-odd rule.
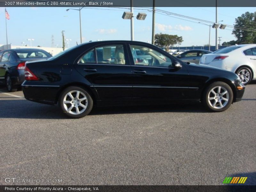
[[[88,99],[81,91],[70,91],[64,96],[63,106],[68,113],[78,115],[86,110]]]

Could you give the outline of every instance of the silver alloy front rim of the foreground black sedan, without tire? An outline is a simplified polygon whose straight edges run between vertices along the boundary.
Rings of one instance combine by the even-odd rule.
[[[229,93],[223,86],[216,86],[208,94],[208,103],[216,109],[221,109],[228,104]]]

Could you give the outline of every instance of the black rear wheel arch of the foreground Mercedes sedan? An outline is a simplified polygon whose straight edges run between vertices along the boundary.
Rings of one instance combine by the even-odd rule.
[[[61,92],[63,92],[63,90],[65,90],[66,88],[71,87],[71,86],[81,87],[84,90],[86,90],[92,96],[93,103],[95,105],[97,105],[97,100],[99,99],[97,91],[94,88],[90,87],[89,85],[79,83],[79,82],[69,83],[69,84],[62,86],[56,94],[55,104],[58,103]]]

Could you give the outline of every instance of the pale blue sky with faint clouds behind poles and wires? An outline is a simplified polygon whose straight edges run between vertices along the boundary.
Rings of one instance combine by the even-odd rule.
[[[8,44],[22,45],[21,42],[30,45],[27,39],[35,39],[32,46],[52,46],[52,35],[54,45],[62,46],[62,34],[69,41],[69,47],[80,43],[79,11],[69,10],[68,7],[7,7],[10,20],[7,20]],[[138,9],[138,8],[137,8]],[[147,8],[139,8],[147,9]],[[178,13],[189,17],[215,21],[215,7],[157,7],[168,12]],[[255,12],[255,7],[219,7],[218,20],[223,24],[234,25],[235,19],[245,12]],[[81,10],[82,41],[96,40],[130,40],[130,20],[123,20],[124,8],[93,8],[85,7]],[[152,11],[136,10],[147,13],[145,20],[134,18],[134,40],[151,42],[152,36]],[[172,15],[170,15],[172,16]],[[181,20],[156,13],[155,33],[166,33],[183,37],[180,46],[192,46],[208,44],[209,25]],[[0,44],[6,44],[5,13],[4,7],[0,7]],[[219,29],[221,43],[236,40],[232,31]],[[211,28],[210,44],[215,45],[215,29]]]

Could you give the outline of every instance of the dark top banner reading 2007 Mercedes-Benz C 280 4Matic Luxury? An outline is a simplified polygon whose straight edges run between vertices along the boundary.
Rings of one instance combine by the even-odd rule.
[[[156,7],[256,7],[256,0],[155,0]],[[0,0],[1,7],[130,7],[131,0]],[[133,0],[152,7],[153,0]]]

